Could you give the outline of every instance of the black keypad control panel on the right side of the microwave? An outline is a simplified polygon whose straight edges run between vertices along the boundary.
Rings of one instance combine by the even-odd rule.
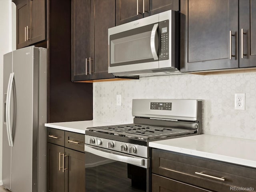
[[[169,20],[159,22],[160,51],[159,60],[169,59]]]

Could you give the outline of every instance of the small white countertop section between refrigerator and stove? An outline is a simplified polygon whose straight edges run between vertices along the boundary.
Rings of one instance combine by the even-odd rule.
[[[61,129],[65,131],[71,131],[76,133],[85,134],[85,130],[88,127],[97,127],[97,126],[107,126],[107,125],[117,125],[118,123],[114,122],[103,122],[103,121],[70,121],[70,122],[58,122],[58,123],[46,123],[44,126]]]

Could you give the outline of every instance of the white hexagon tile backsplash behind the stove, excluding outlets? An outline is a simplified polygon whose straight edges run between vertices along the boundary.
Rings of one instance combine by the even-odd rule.
[[[245,110],[234,110],[234,94],[245,93]],[[122,106],[116,106],[116,95]],[[256,140],[256,73],[180,74],[96,82],[93,84],[93,119],[132,123],[132,99],[201,99],[203,132]]]

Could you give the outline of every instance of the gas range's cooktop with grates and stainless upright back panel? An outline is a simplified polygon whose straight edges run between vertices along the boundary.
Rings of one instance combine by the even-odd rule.
[[[172,107],[161,108],[166,104]],[[86,135],[148,146],[151,141],[200,134],[202,101],[133,100],[132,115],[133,124],[90,127]]]

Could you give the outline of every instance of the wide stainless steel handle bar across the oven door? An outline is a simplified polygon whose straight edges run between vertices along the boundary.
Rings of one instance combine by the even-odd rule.
[[[144,168],[149,167],[149,160],[144,159],[144,158],[128,156],[128,155],[125,155],[122,153],[113,152],[111,150],[101,149],[98,147],[92,147],[92,146],[89,146],[86,144],[84,145],[84,151],[92,153],[94,155],[104,157],[104,158],[108,158],[111,160],[116,160],[116,161],[120,161],[120,162],[124,162],[124,163],[128,163],[128,164],[133,164],[133,165],[137,165],[137,166],[144,167]]]

